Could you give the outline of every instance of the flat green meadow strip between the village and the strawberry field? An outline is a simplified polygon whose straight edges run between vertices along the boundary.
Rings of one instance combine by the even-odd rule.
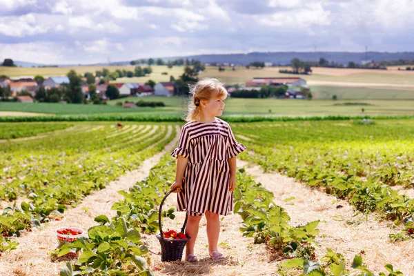
[[[10,103],[0,102],[0,111],[41,112],[57,115],[183,115],[186,110],[186,101],[179,97],[128,97],[124,101],[164,101],[163,108],[122,108],[115,106],[115,101],[108,105],[83,105],[61,103]],[[368,106],[341,105],[338,103],[368,103]],[[364,114],[362,114],[364,108]],[[269,112],[270,110],[270,112]],[[295,100],[295,99],[226,99],[225,116],[239,115],[414,115],[414,101],[397,100]]]

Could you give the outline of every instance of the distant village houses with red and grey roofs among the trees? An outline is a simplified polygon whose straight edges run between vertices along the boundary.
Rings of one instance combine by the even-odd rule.
[[[81,85],[83,97],[90,99],[90,83],[87,82],[86,77],[82,77],[81,80],[84,84]],[[59,88],[63,83],[70,83],[69,77],[54,76],[48,77],[43,81],[35,81],[33,77],[21,77],[21,78],[0,78],[0,88],[10,89],[11,95],[9,99],[11,101],[32,103],[35,101],[37,91],[41,86],[46,90],[52,88]],[[103,102],[108,101],[107,96],[108,86],[115,86],[119,91],[119,98],[126,97],[146,97],[146,96],[159,96],[159,97],[177,97],[177,86],[175,81],[158,82],[155,83],[142,83],[142,82],[126,82],[119,83],[117,81],[102,83],[101,77],[95,77],[95,92],[97,97]],[[232,97],[235,92],[259,92],[264,87],[285,87],[286,92],[283,95],[269,95],[278,99],[306,99],[309,95],[309,88],[306,84],[306,80],[300,77],[253,77],[244,84],[228,86],[228,97]],[[243,94],[237,97],[244,97]],[[248,97],[255,97],[248,96]],[[59,103],[67,103],[67,101],[59,100]],[[137,106],[133,104],[124,104],[126,108],[135,108]]]

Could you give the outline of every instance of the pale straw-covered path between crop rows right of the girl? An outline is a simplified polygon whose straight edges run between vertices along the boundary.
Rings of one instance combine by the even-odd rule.
[[[377,221],[375,215],[353,217],[355,211],[346,201],[313,190],[293,178],[274,172],[264,173],[262,168],[246,161],[237,160],[237,165],[244,166],[248,174],[255,176],[256,181],[275,195],[275,203],[286,209],[293,225],[321,221],[317,238],[321,245],[317,250],[319,257],[325,248],[331,248],[352,262],[353,257],[364,250],[363,259],[370,270],[384,271],[385,264],[393,264],[404,275],[414,275],[414,240],[389,242],[388,234],[397,232],[390,228],[391,221]]]

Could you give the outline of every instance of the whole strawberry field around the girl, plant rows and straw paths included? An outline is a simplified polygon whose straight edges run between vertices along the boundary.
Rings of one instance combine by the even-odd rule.
[[[234,214],[222,221],[219,248],[230,257],[217,264],[203,257],[205,223],[198,264],[160,260],[158,208],[175,177],[169,152],[180,127],[2,123],[0,271],[414,273],[413,119],[232,124],[247,150],[238,156]],[[173,196],[166,204],[163,230],[178,229],[184,213],[171,208]],[[69,225],[89,237],[56,250],[54,230]]]

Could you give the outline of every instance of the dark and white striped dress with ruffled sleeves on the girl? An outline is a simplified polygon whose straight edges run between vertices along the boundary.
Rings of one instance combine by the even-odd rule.
[[[219,118],[211,123],[190,121],[181,129],[178,146],[170,155],[188,158],[177,210],[202,216],[206,210],[219,215],[233,211],[228,159],[246,147],[236,141],[230,126]]]

